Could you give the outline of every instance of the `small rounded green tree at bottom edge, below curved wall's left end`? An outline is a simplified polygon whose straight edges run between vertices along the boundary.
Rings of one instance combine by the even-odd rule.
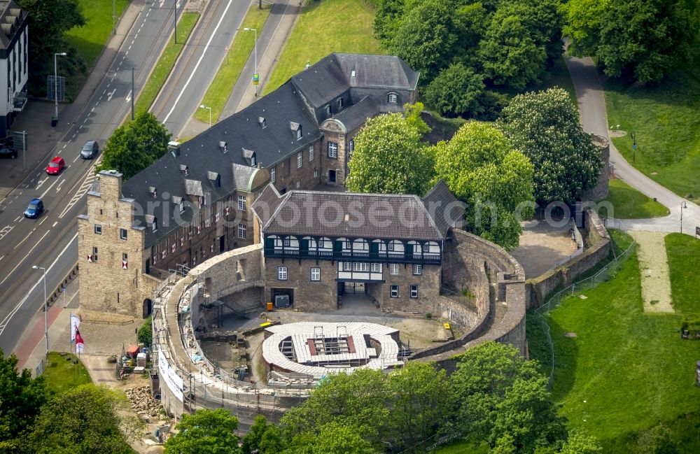
[[[202,409],[185,414],[175,427],[179,432],[166,441],[165,454],[241,454],[238,418],[226,409]]]

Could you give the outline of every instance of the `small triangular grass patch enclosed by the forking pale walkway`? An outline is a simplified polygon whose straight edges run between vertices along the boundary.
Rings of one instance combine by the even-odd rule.
[[[650,199],[622,180],[610,180],[608,198],[614,211],[598,210],[598,214],[618,219],[659,218],[668,215],[668,208]]]

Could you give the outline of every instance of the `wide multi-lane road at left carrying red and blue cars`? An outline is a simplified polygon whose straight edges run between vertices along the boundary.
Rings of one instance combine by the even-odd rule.
[[[97,140],[102,147],[129,115],[132,68],[138,92],[172,32],[173,2],[154,1],[139,13],[109,71],[55,146],[52,154],[65,159],[66,169],[59,176],[48,176],[44,171],[47,163],[38,164],[3,201],[0,348],[6,353],[15,350],[31,318],[43,306],[41,271],[32,265],[47,269],[46,286],[52,292],[78,260],[76,217],[85,210],[85,193],[92,186],[98,160],[81,159],[80,148],[87,140]],[[24,218],[22,213],[34,197],[43,199],[46,212],[37,220]]]

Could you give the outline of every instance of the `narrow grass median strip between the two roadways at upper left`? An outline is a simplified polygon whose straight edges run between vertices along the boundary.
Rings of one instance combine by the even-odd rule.
[[[160,89],[163,87],[165,80],[170,75],[177,57],[179,57],[180,52],[185,47],[187,39],[190,37],[190,33],[195,28],[197,20],[200,19],[199,13],[183,13],[180,16],[178,22],[179,27],[177,27],[177,44],[171,38],[170,42],[165,46],[163,53],[158,59],[158,63],[155,64],[153,73],[151,77],[146,81],[146,85],[141,90],[139,98],[136,100],[134,105],[134,112],[140,113],[148,111],[151,108],[151,104],[155,101],[155,97],[158,96]]]

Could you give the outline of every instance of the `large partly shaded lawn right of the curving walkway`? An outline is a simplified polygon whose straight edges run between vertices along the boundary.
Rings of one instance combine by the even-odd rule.
[[[700,52],[695,61],[700,62]],[[617,150],[646,176],[695,202],[700,201],[699,92],[700,73],[692,65],[659,87],[605,83],[608,123],[628,132],[612,139]]]

